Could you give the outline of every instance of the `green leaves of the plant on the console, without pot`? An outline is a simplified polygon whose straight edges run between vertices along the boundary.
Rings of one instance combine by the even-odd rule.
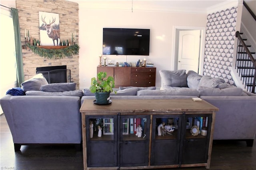
[[[109,76],[107,77],[106,72],[99,72],[97,74],[97,78],[93,77],[91,79],[91,86],[90,86],[90,91],[92,93],[95,92],[112,92],[113,88],[115,87],[115,81],[114,77]],[[114,91],[116,93],[116,91]]]

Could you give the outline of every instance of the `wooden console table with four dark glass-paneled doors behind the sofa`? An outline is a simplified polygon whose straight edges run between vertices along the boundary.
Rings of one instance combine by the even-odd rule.
[[[80,109],[84,170],[210,168],[216,111],[204,100],[113,99],[109,105],[85,100]],[[200,118],[206,133],[198,134],[194,126]],[[174,131],[164,133],[162,122]]]

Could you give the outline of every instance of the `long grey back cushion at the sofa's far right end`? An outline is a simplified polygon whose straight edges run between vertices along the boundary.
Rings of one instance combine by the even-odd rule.
[[[199,87],[200,96],[242,96],[243,89],[239,87],[230,87],[226,89]]]

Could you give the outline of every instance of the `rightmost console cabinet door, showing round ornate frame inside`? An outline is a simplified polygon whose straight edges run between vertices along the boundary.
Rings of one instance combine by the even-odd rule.
[[[211,114],[184,115],[181,164],[207,162],[211,125]]]

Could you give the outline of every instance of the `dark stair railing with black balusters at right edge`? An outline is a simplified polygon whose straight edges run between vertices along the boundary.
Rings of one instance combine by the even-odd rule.
[[[248,49],[246,43],[244,42],[243,38],[240,36],[240,32],[236,32],[236,37],[238,38],[238,43],[237,43],[237,49],[238,52],[236,53],[236,68],[237,71],[239,72],[239,75],[244,75],[243,81],[245,82],[245,88],[247,85],[247,90],[248,86],[252,86],[252,93],[255,93],[255,81],[256,81],[256,61],[254,57],[252,56],[252,53]],[[240,61],[240,65],[238,65],[238,62]],[[254,69],[254,73],[253,70]],[[250,75],[253,75],[254,78],[250,79]]]

